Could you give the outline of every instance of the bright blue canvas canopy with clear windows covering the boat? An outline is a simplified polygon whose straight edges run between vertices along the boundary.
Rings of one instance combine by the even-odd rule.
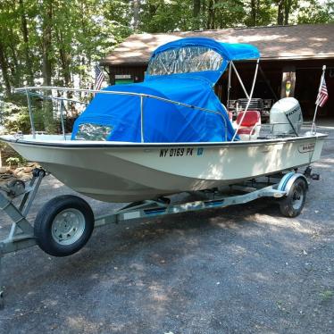
[[[114,94],[96,94],[75,121],[71,138],[150,143],[229,141],[234,129],[213,85],[229,61],[258,57],[255,46],[209,38],[183,38],[160,46],[152,54],[145,81],[104,88]]]

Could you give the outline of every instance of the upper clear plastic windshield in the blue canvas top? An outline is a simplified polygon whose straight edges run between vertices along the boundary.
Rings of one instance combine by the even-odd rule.
[[[168,75],[198,71],[218,71],[223,63],[221,54],[207,46],[181,46],[154,55],[147,74]]]

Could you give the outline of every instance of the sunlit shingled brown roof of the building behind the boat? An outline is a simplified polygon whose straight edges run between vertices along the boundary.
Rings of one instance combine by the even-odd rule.
[[[207,37],[257,46],[263,60],[334,58],[334,24],[305,24],[134,34],[116,46],[101,64],[147,63],[154,49],[179,38]]]

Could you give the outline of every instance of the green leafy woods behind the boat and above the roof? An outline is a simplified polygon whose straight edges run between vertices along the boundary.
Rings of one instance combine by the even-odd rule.
[[[96,63],[134,32],[171,32],[333,21],[334,2],[316,0],[1,0],[0,99],[9,131],[29,131],[26,99],[14,87],[92,88]],[[53,109],[35,104],[37,129]]]

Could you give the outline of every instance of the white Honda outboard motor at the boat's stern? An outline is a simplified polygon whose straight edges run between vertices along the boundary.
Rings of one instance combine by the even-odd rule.
[[[296,98],[284,97],[273,104],[270,123],[275,136],[297,135],[303,124],[303,114]]]

